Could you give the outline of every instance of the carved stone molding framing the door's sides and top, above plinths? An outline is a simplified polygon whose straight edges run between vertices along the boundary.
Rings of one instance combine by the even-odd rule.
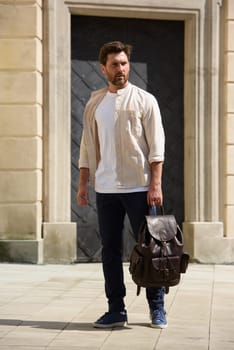
[[[193,227],[196,222],[209,222],[217,226],[222,236],[219,156],[221,1],[136,0],[133,4],[130,0],[46,0],[44,4],[45,221],[70,220],[70,15],[183,20],[184,227],[190,223]]]

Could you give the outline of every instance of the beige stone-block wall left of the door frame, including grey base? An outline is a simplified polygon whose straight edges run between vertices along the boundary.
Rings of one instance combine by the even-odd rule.
[[[0,1],[0,260],[41,260],[42,1]]]

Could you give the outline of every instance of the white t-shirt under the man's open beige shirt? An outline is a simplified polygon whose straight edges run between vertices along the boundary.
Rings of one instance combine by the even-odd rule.
[[[99,193],[131,193],[148,187],[119,189],[116,185],[115,102],[117,93],[107,92],[95,112],[101,160],[95,173],[95,191]]]

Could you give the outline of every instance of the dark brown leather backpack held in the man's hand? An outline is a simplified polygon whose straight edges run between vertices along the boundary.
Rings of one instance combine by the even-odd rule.
[[[146,216],[130,256],[129,271],[140,287],[169,287],[180,282],[189,255],[183,252],[183,234],[173,215]]]

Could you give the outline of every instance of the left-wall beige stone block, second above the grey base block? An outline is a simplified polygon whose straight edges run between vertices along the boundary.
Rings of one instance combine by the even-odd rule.
[[[41,171],[1,171],[0,193],[1,203],[27,203],[41,201]]]

